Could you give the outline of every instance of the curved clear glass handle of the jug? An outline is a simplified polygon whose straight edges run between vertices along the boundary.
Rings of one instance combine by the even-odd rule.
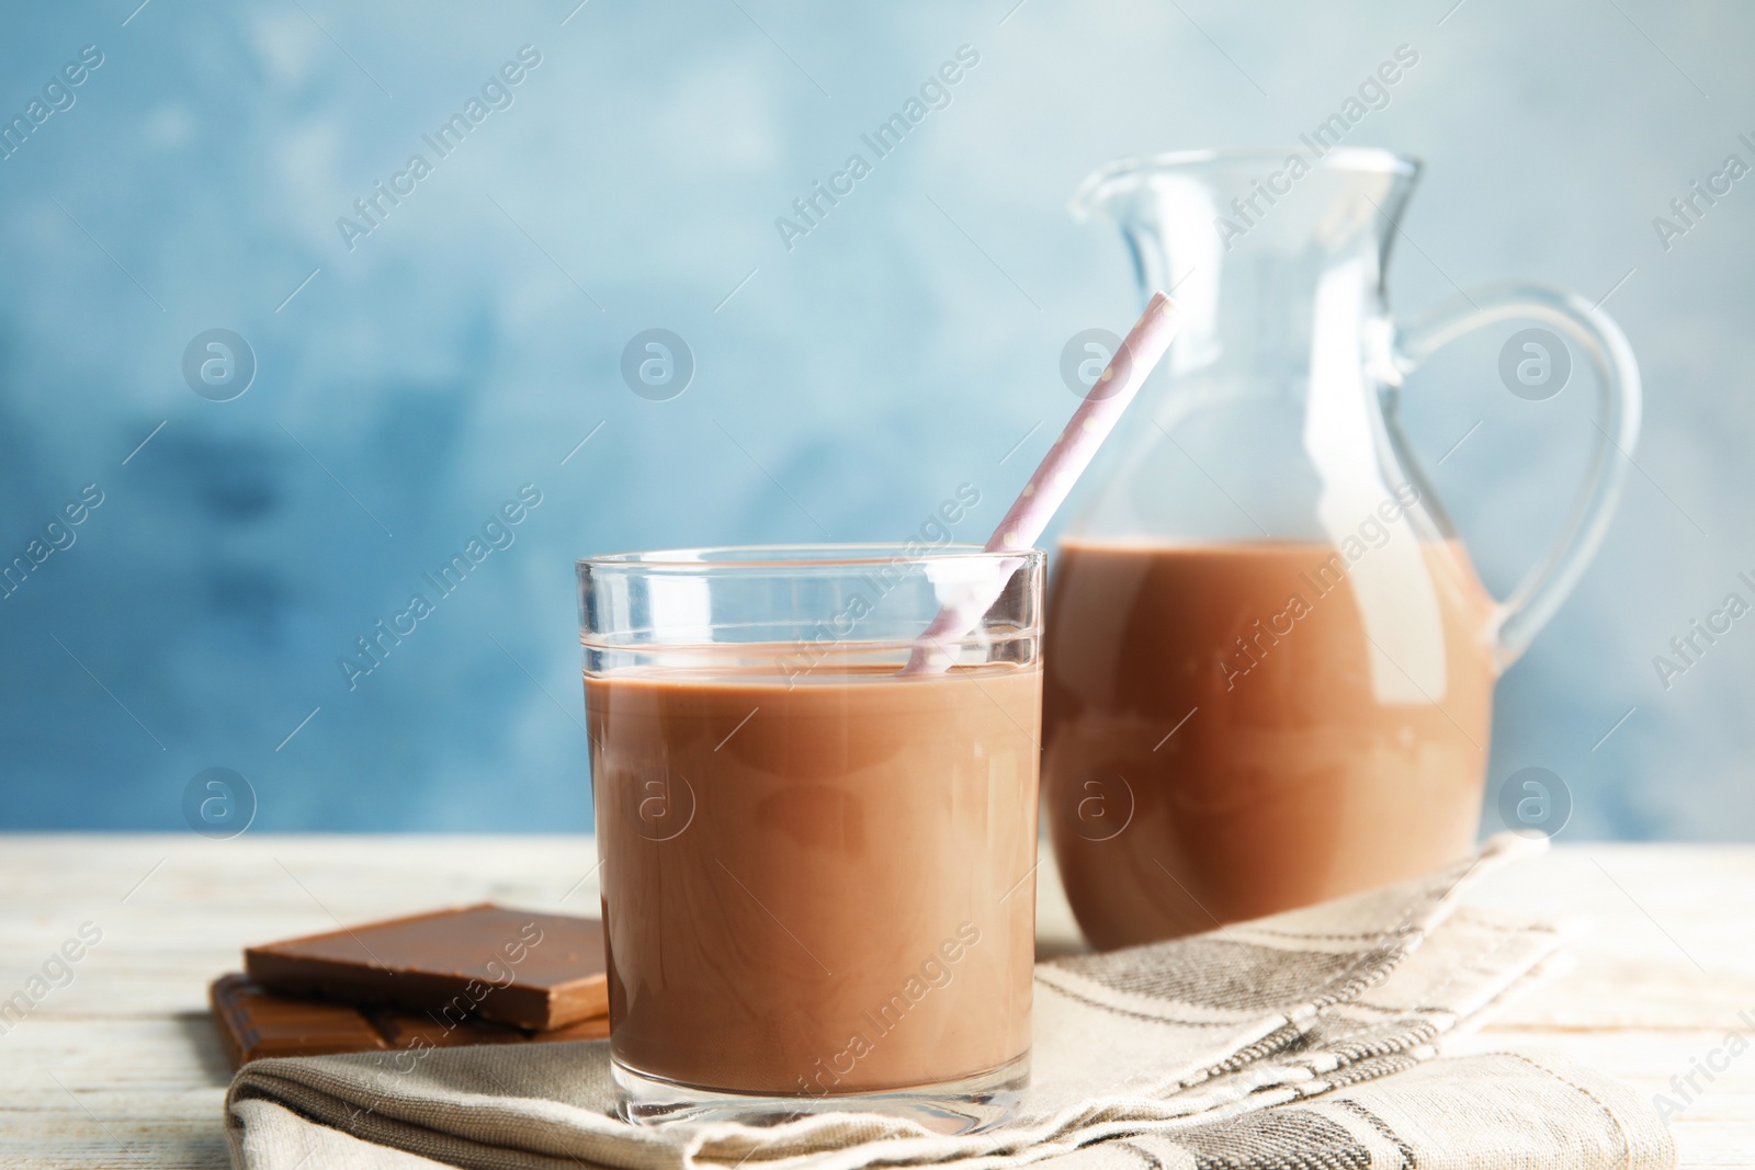
[[[1639,439],[1641,409],[1639,363],[1620,326],[1583,296],[1544,284],[1472,289],[1465,300],[1411,321],[1397,330],[1395,367],[1408,374],[1464,333],[1520,317],[1553,326],[1590,358],[1597,370],[1597,440],[1585,484],[1560,535],[1518,588],[1499,602],[1494,637],[1501,670],[1529,649],[1602,544]]]

